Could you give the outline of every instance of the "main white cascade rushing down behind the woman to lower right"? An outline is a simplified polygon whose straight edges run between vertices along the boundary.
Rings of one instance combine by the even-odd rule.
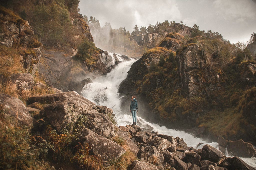
[[[97,105],[107,106],[112,108],[114,112],[118,113],[117,122],[118,126],[132,123],[132,115],[129,112],[129,108],[127,108],[126,113],[121,112],[120,106],[120,96],[118,94],[118,88],[122,80],[124,80],[127,76],[127,72],[129,71],[131,65],[135,62],[135,60],[131,61],[123,61],[119,63],[114,70],[108,73],[106,76],[97,77],[93,79],[93,83],[86,84],[83,88],[82,94],[85,98],[90,101],[96,103]],[[138,101],[139,104],[140,101]],[[202,147],[206,144],[209,144],[217,149],[219,149],[219,145],[216,142],[207,142],[200,138],[196,138],[191,134],[185,133],[183,131],[178,131],[174,129],[167,129],[165,126],[159,126],[159,124],[153,124],[145,121],[140,117],[140,112],[137,114],[137,121],[140,122],[140,126],[142,128],[147,128],[147,125],[153,127],[154,131],[159,134],[165,134],[168,136],[183,138],[183,140],[187,143],[188,147],[194,147],[197,149],[202,149]],[[199,143],[203,143],[198,146]],[[198,147],[197,147],[198,146]],[[227,155],[228,156],[228,155]],[[241,158],[247,164],[252,167],[256,167],[256,158]]]

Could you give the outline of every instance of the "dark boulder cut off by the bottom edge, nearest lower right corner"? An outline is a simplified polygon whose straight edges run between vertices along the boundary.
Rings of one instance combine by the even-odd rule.
[[[228,169],[244,169],[244,170],[255,170],[250,165],[245,163],[243,160],[238,158],[237,156],[232,158],[227,158],[227,162],[230,163]]]

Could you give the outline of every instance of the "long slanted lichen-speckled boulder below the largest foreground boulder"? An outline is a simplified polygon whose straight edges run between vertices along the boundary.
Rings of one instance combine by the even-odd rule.
[[[102,159],[102,161],[109,161],[110,159],[118,159],[126,151],[112,140],[109,140],[90,129],[83,130],[82,138],[85,139],[84,145],[87,143],[90,147],[90,152]]]

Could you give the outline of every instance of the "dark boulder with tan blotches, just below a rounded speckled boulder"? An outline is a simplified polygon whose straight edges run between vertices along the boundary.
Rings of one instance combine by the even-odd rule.
[[[137,157],[143,162],[149,162],[154,165],[162,165],[164,162],[162,151],[155,146],[141,147]]]

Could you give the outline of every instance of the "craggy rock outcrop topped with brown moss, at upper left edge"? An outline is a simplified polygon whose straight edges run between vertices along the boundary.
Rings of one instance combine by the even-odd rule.
[[[24,53],[21,54],[24,68],[34,75],[40,64],[42,44],[35,39],[33,29],[28,21],[2,6],[0,20],[0,43],[7,47],[24,47]]]

